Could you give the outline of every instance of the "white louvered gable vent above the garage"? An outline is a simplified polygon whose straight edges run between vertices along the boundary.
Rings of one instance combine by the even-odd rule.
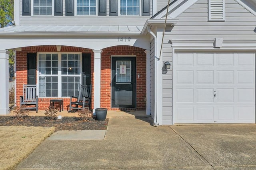
[[[209,21],[225,21],[225,0],[209,0]]]

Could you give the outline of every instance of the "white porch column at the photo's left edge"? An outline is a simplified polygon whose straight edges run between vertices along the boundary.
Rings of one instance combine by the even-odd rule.
[[[0,50],[0,114],[7,115],[9,110],[9,51]]]

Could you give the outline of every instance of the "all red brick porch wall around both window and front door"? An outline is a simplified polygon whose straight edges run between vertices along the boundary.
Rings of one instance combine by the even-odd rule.
[[[22,96],[23,84],[27,84],[27,53],[36,52],[57,52],[55,45],[22,47],[22,51],[16,51],[16,104],[20,105],[20,96]],[[94,94],[94,53],[91,49],[62,46],[60,52],[82,52],[91,54],[91,82],[92,82],[92,108]],[[146,109],[146,54],[144,49],[130,46],[116,46],[103,49],[101,66],[101,107],[111,109],[111,55],[135,55],[136,69],[140,78],[136,78],[136,109]],[[50,104],[51,98],[39,98],[38,107],[41,110],[46,109]],[[64,98],[64,110],[68,109],[70,98]],[[119,110],[114,108],[111,110]]]

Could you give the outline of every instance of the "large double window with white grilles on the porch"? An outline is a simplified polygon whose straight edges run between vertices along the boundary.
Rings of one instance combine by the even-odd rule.
[[[39,53],[39,97],[76,96],[81,82],[80,53]]]

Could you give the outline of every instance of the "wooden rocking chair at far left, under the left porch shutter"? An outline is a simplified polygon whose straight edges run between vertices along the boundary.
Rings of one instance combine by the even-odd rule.
[[[20,108],[22,105],[34,107],[26,107],[26,109],[36,109],[38,112],[38,96],[36,96],[36,84],[23,84],[23,96],[20,96]]]

